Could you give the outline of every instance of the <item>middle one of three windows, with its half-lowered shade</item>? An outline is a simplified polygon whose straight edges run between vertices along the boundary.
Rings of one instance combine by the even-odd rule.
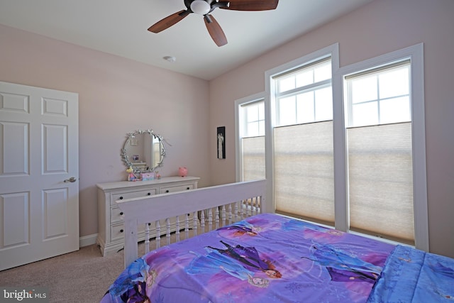
[[[292,62],[290,68],[269,72],[275,210],[331,226],[335,221],[331,77],[336,50],[334,45]]]

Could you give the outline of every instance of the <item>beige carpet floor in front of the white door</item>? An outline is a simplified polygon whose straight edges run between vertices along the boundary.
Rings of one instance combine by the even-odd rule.
[[[123,269],[123,250],[103,257],[92,245],[0,271],[0,286],[48,287],[49,302],[99,302]]]

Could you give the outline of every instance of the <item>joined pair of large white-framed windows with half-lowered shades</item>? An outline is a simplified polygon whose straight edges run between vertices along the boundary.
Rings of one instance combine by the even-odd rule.
[[[428,251],[423,45],[342,68],[331,45],[265,78],[266,208]]]

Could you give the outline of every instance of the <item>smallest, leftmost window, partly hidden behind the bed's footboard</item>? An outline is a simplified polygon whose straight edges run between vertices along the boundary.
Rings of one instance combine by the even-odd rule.
[[[265,179],[265,102],[261,95],[236,101],[237,180]]]

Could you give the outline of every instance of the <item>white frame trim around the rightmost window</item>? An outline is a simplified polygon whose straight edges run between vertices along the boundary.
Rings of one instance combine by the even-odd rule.
[[[413,141],[414,231],[415,247],[429,250],[428,206],[426,175],[426,131],[423,85],[423,43],[392,53],[341,67],[333,74],[333,127],[334,127],[334,194],[336,201],[336,228],[348,231],[348,178],[345,146],[345,111],[347,92],[345,77],[373,70],[399,60],[410,60],[411,72],[411,137]]]

